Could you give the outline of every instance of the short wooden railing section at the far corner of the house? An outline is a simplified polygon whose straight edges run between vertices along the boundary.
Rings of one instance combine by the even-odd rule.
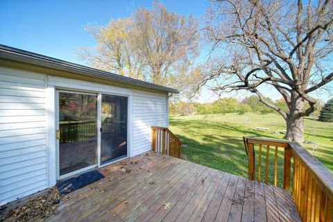
[[[157,153],[180,158],[182,142],[166,127],[151,127],[151,149]]]

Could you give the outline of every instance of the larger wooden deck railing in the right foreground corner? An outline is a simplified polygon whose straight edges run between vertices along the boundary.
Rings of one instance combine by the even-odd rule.
[[[258,182],[262,181],[262,152],[266,152],[264,181],[268,184],[269,158],[273,153],[274,185],[278,186],[278,151],[283,151],[283,188],[292,192],[302,221],[333,221],[333,173],[305,148],[296,142],[252,137],[244,137],[244,145],[250,180],[257,178]],[[257,160],[255,146],[259,151]]]

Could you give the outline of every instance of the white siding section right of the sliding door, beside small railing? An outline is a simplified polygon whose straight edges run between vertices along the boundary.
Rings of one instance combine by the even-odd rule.
[[[167,126],[167,95],[133,90],[133,154],[151,150],[151,126]]]

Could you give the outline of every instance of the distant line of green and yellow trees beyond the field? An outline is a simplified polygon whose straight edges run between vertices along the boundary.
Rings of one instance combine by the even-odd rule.
[[[265,98],[270,103],[274,103],[282,108],[285,112],[288,112],[287,104],[284,99],[278,99],[273,101],[271,98]],[[314,112],[315,116],[318,116],[320,108]],[[198,102],[184,102],[184,101],[171,101],[169,104],[171,115],[189,115],[189,114],[226,114],[226,113],[238,113],[245,114],[246,112],[254,112],[258,114],[268,114],[274,112],[271,108],[268,108],[264,103],[259,101],[257,96],[248,96],[243,100],[238,101],[235,98],[221,98],[212,103],[198,103]],[[306,106],[307,107],[307,106]]]

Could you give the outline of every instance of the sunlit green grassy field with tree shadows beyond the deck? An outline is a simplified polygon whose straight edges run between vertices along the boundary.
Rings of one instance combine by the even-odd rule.
[[[269,128],[268,132],[255,130]],[[285,130],[284,119],[278,114],[209,114],[170,117],[170,128],[178,135],[182,146],[182,158],[207,167],[247,177],[248,159],[245,153],[243,136],[282,139],[283,135],[273,135],[273,131]],[[302,144],[325,166],[333,170],[333,123],[323,123],[314,118],[305,119],[305,138],[317,144],[316,151],[311,145]],[[270,155],[270,182],[273,182],[273,151]],[[279,185],[283,177],[283,153],[278,155]],[[257,155],[256,155],[257,158]],[[262,162],[266,161],[265,152]],[[257,169],[257,168],[256,168]],[[262,169],[264,176],[264,169]]]

